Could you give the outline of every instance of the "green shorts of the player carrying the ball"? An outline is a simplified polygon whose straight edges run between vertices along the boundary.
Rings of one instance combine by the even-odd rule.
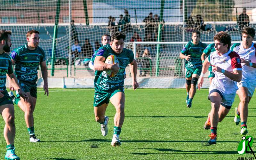
[[[116,94],[117,92],[123,92],[124,93],[124,87],[119,87],[116,88],[114,90],[112,90],[111,92],[108,93],[101,93],[98,91],[94,92],[94,102],[93,102],[93,106],[94,107],[99,107],[100,105],[104,104],[104,103],[109,103],[109,99]]]

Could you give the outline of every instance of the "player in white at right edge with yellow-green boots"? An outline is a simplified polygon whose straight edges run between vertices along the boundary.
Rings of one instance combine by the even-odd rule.
[[[234,121],[238,125],[241,121],[241,134],[246,135],[247,131],[247,117],[248,117],[248,103],[250,102],[253,92],[256,87],[256,56],[253,38],[255,30],[251,27],[245,27],[242,30],[241,43],[233,44],[230,48],[232,51],[237,52],[242,61],[243,76],[242,80],[237,83],[237,94],[240,98],[240,103],[235,108]]]

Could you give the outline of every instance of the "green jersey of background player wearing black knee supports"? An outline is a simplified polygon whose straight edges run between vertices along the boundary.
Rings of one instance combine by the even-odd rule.
[[[206,46],[207,45],[202,42],[199,42],[197,45],[195,45],[192,41],[185,45],[185,47],[181,50],[181,53],[186,56],[191,55],[190,60],[185,60],[185,67],[187,69],[202,67],[201,55]]]

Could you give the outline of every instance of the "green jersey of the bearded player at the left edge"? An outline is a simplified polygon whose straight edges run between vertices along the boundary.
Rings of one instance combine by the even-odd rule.
[[[7,53],[0,54],[0,90],[6,91],[6,74],[12,74],[12,60]]]

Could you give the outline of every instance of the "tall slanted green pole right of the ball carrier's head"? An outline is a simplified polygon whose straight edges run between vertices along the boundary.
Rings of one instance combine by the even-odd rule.
[[[159,25],[158,25],[158,35],[157,35],[157,42],[161,40],[161,28],[163,26],[163,15],[164,15],[164,0],[161,0],[161,9],[160,9],[160,17],[159,17]],[[158,76],[158,68],[159,68],[159,44],[157,44],[156,49],[156,77]]]

